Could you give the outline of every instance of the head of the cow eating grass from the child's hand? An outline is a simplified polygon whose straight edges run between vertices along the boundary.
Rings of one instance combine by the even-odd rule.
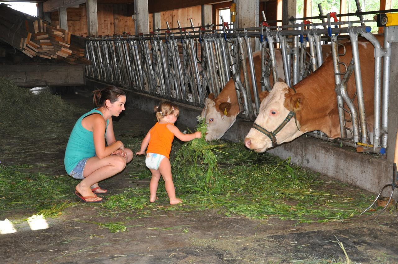
[[[206,140],[219,139],[225,134],[235,122],[236,115],[230,113],[231,103],[216,103],[214,94],[209,94],[205,101],[201,116],[205,118],[207,124]]]

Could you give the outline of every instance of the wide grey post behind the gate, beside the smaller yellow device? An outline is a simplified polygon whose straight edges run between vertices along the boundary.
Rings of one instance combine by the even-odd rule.
[[[258,0],[236,1],[236,27],[259,27],[260,3]],[[235,27],[235,24],[234,24]],[[252,39],[252,51],[259,50],[259,39]]]

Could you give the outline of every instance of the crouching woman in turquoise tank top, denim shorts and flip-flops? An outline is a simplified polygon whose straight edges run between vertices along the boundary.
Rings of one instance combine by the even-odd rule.
[[[94,93],[94,108],[82,115],[73,127],[65,151],[65,170],[82,180],[76,185],[76,196],[84,202],[101,202],[97,193],[106,193],[98,182],[123,171],[133,159],[133,152],[115,139],[112,116],[125,110],[125,92],[109,86]],[[105,140],[106,145],[105,145]]]

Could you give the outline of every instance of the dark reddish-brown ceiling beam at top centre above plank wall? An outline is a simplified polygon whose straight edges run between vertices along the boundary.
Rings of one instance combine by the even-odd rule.
[[[217,1],[217,0],[174,0],[174,1],[165,1],[165,0],[148,0],[148,11],[149,13],[154,12],[163,12],[174,9],[187,8],[192,6],[201,6],[205,4],[215,4],[220,2],[227,1]]]

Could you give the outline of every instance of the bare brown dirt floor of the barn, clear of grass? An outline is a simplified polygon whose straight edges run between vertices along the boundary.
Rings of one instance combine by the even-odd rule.
[[[89,95],[79,91],[62,98],[90,110]],[[143,137],[153,124],[152,114],[127,105],[125,114],[114,122],[115,135],[117,139],[122,134]],[[63,157],[71,128],[71,124],[60,128],[64,129],[64,138],[43,132],[39,142],[29,135],[2,138],[0,160],[4,165],[37,165],[33,170],[68,177]],[[119,175],[103,181],[101,187],[111,190],[110,195],[131,186],[148,188],[148,179],[138,180],[129,175],[127,167]],[[78,202],[73,191],[70,190],[69,198]],[[156,202],[156,206],[170,207],[166,199]],[[158,210],[148,217],[135,217],[138,212],[129,213],[128,217],[123,215],[127,231],[111,233],[93,222],[119,219],[101,215],[101,210],[98,204],[78,202],[60,216],[47,218],[48,229],[36,231],[29,228],[27,221],[18,221],[30,216],[26,212],[0,215],[0,220],[16,221],[17,230],[0,235],[0,262],[345,263],[344,252],[337,243],[339,239],[352,262],[398,263],[398,223],[391,223],[396,214],[381,215],[377,221],[373,221],[375,215],[364,215],[344,222],[296,225],[277,217],[261,220],[225,217],[218,210],[210,209]]]

